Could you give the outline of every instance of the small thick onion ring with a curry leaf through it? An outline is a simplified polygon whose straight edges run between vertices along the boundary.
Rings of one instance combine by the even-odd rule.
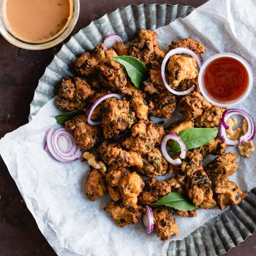
[[[172,159],[168,152],[167,152],[167,149],[166,149],[166,144],[167,144],[167,141],[168,140],[174,140],[174,141],[177,141],[181,147],[181,155],[180,157],[182,159],[184,159],[186,157],[186,154],[187,154],[187,148],[184,144],[184,142],[182,141],[182,139],[178,136],[178,135],[175,135],[174,133],[169,133],[168,135],[165,135],[163,137],[163,140],[161,142],[161,151],[162,151],[162,155],[164,157],[164,159],[173,164],[173,165],[181,165],[182,164],[182,161],[181,159],[177,158],[177,159]]]

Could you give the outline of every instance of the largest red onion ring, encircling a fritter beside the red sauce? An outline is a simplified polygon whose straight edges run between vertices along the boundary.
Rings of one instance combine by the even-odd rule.
[[[170,88],[170,86],[168,85],[166,79],[165,79],[165,66],[166,66],[166,63],[167,61],[169,60],[169,58],[174,55],[174,54],[188,54],[192,57],[195,58],[195,61],[198,65],[199,68],[202,67],[202,62],[201,60],[199,59],[199,57],[195,54],[195,52],[193,52],[192,50],[188,49],[188,48],[184,48],[184,47],[178,47],[178,48],[175,48],[175,49],[172,49],[168,52],[168,54],[166,54],[166,56],[164,57],[163,61],[162,61],[162,66],[161,66],[161,75],[162,75],[162,81],[164,83],[164,86],[168,89],[168,91],[170,91],[172,94],[175,94],[175,95],[186,95],[186,94],[189,94],[191,93],[194,88],[195,88],[195,85],[193,85],[192,87],[190,87],[188,90],[186,91],[182,91],[182,92],[177,92],[175,90],[173,90],[172,88]]]

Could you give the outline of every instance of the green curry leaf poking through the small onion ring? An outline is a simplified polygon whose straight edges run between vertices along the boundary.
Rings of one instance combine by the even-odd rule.
[[[178,136],[181,137],[187,149],[192,149],[208,144],[217,136],[218,130],[218,128],[187,128],[181,131]],[[181,151],[181,148],[176,141],[173,142],[171,151]]]

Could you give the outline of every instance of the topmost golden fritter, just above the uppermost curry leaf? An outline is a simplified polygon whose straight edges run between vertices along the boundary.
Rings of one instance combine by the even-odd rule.
[[[140,30],[139,42],[131,42],[128,46],[128,55],[147,65],[154,58],[154,48],[159,47],[157,34],[150,30]]]

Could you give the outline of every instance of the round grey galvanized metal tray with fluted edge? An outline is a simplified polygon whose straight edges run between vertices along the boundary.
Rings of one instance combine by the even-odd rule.
[[[29,120],[58,93],[59,82],[63,76],[74,76],[74,61],[85,51],[96,47],[108,34],[119,34],[128,42],[137,37],[138,30],[155,30],[166,26],[178,17],[186,17],[194,9],[189,6],[168,4],[130,5],[92,21],[90,25],[72,36],[46,67],[30,104]],[[210,219],[183,240],[170,242],[167,255],[222,255],[253,234],[255,229],[256,188],[252,189],[239,205]]]

